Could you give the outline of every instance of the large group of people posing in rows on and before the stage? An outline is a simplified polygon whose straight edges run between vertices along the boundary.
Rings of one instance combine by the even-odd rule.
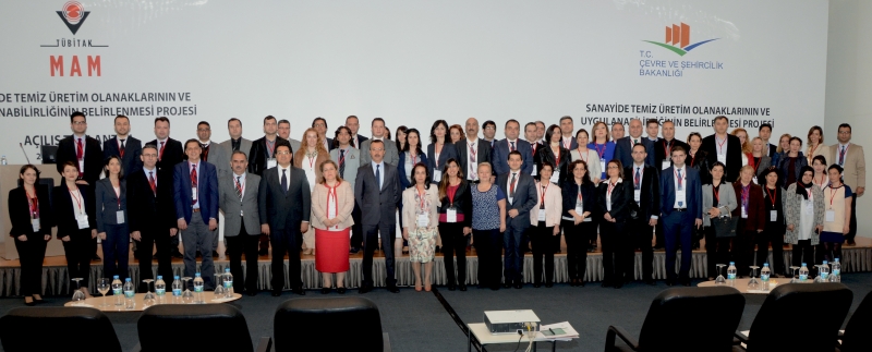
[[[726,117],[714,118],[713,125],[714,134],[693,132],[682,142],[668,120],[644,121],[647,135],[643,121],[631,120],[625,136],[621,123],[610,131],[605,122],[576,131],[572,118],[562,117],[547,128],[526,123],[520,138],[521,123],[508,120],[505,138],[496,139],[493,121],[480,130],[474,118],[464,126],[437,120],[425,149],[417,129],[399,126],[391,139],[380,118],[372,120],[368,138],[358,134],[355,116],[332,137],[326,120],[316,118],[301,141],[290,138],[287,120],[266,117],[264,137],[249,141],[242,122],[230,119],[230,139],[223,143],[211,142],[210,125],[202,121],[197,138],[182,144],[169,137],[170,122],[161,117],[155,119],[156,139],[143,144],[130,136],[129,119],[119,116],[117,136],[101,147],[86,136],[86,117],[76,112],[73,134],[57,153],[64,181],[55,190],[43,187],[39,170],[27,165],[21,186],[10,192],[21,291],[28,304],[41,300],[41,262],[53,226],[64,242],[71,278],[88,282],[97,236],[107,276],[128,276],[132,239],[142,278],[152,278],[153,247],[158,274],[172,277],[170,257],[181,236],[184,254],[175,255],[184,258],[184,275],[197,271],[199,253],[199,272],[211,289],[219,211],[234,290],[249,294],[257,291],[257,257],[269,245],[274,295],[286,287],[286,253],[289,288],[305,294],[303,247],[315,255],[323,293],[334,286],[346,292],[349,254],[362,250],[360,292],[368,292],[379,243],[384,283],[399,292],[393,272],[398,218],[417,291],[432,289],[437,242],[447,288],[461,291],[467,290],[470,242],[479,256],[477,284],[494,290],[522,288],[528,247],[533,286],[552,287],[561,235],[571,286],[584,286],[588,250],[598,238],[602,284],[615,288],[637,279],[637,248],[642,251],[640,278],[654,284],[655,241],[654,247],[666,248],[669,286],[690,283],[691,248],[702,238],[710,277],[715,263],[728,259],[747,274],[755,245],[761,265],[772,244],[774,270],[784,275],[778,259],[784,243],[792,244],[795,263],[839,257],[841,243],[853,243],[853,209],[864,191],[865,169],[862,147],[850,143],[850,125],[838,128],[839,143],[832,146],[824,145],[820,126],[812,128],[804,153],[797,136],[770,144],[766,123],[753,139],[743,129],[727,133]],[[718,223],[729,217],[738,218],[735,231],[720,231]]]

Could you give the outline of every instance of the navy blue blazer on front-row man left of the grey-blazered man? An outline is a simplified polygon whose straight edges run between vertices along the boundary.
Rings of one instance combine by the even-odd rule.
[[[204,223],[218,219],[218,171],[215,166],[203,160],[197,166],[197,201]],[[179,162],[172,172],[172,198],[175,202],[175,218],[191,223],[193,205],[191,199],[191,167],[189,161]]]

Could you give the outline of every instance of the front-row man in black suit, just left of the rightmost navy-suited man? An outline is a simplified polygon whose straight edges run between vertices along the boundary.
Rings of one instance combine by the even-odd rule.
[[[652,232],[661,214],[661,174],[657,169],[646,166],[645,159],[647,151],[645,146],[637,144],[633,146],[633,162],[623,168],[623,175],[627,181],[633,184],[633,201],[630,205],[630,235],[633,236],[633,248],[642,251],[642,279],[647,284],[654,284],[652,277],[654,272],[654,251],[651,247]],[[626,268],[632,268],[634,255],[628,256]],[[632,270],[627,272],[629,277],[625,281],[632,280]],[[620,278],[619,278],[620,279]]]

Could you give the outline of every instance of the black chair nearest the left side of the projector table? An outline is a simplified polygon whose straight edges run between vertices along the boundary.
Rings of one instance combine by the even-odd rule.
[[[364,298],[295,299],[276,309],[276,352],[390,351],[373,301]]]

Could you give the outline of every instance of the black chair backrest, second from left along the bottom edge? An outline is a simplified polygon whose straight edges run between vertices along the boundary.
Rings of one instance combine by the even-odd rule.
[[[254,351],[245,317],[229,304],[155,305],[136,326],[142,351]]]

